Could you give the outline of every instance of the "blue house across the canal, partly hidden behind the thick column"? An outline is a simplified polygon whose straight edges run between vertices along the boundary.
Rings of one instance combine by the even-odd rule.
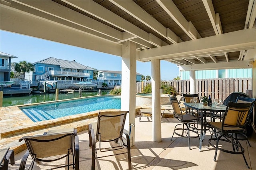
[[[136,73],[136,82],[141,81],[142,74]],[[122,71],[98,70],[98,79],[107,83],[108,86],[121,85]]]

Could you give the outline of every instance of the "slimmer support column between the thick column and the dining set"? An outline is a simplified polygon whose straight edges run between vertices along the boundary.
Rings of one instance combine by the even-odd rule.
[[[161,111],[160,111],[160,60],[151,60],[152,85],[152,131],[153,140],[161,142]]]

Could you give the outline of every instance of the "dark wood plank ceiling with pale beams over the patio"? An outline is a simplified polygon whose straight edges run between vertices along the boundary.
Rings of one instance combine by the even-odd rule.
[[[256,48],[256,38],[240,42],[232,37],[248,36],[251,32],[254,36],[255,31],[241,30],[255,28],[255,0],[4,1],[1,5],[6,9],[25,11],[69,27],[72,24],[73,29],[107,42],[122,44],[132,41],[137,44],[139,61],[156,58],[183,66],[254,59],[246,55]],[[228,34],[232,32],[234,34]],[[230,41],[237,43],[229,44],[225,39],[224,45],[218,46],[223,42],[220,37],[224,37],[220,35],[227,35],[226,39],[230,37]],[[208,51],[193,48],[194,44]],[[186,47],[193,49],[184,51]],[[173,49],[180,51],[172,53]]]

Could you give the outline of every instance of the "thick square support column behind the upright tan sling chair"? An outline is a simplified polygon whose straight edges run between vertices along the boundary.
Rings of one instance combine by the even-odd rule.
[[[122,95],[121,110],[129,111],[125,129],[129,132],[130,124],[135,125],[136,109],[136,44],[130,41],[122,46]],[[135,126],[131,128],[130,144],[134,145]]]

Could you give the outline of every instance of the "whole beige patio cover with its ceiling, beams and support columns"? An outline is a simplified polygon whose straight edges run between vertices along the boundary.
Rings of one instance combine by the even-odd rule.
[[[196,70],[252,68],[256,97],[255,0],[2,0],[0,11],[1,30],[122,57],[121,110],[130,111],[126,129],[135,123],[130,140],[134,147],[141,129],[135,114],[136,61],[151,62],[152,131],[144,134],[152,141],[148,149],[166,140],[160,114],[160,60],[190,71],[191,94],[196,93]]]

